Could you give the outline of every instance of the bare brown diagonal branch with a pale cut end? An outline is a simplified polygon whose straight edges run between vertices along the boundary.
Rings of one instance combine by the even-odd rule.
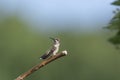
[[[39,70],[40,68],[44,67],[45,65],[47,65],[48,63],[63,57],[67,55],[67,51],[64,50],[61,53],[56,54],[55,56],[50,57],[49,59],[46,59],[44,61],[42,61],[41,63],[37,64],[36,66],[34,66],[33,68],[31,68],[30,70],[28,70],[27,72],[23,73],[22,75],[18,76],[15,80],[24,80],[27,76],[29,76],[30,74],[34,73],[35,71]]]

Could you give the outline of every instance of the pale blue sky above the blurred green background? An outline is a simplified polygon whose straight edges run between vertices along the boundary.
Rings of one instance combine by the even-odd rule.
[[[113,1],[0,0],[0,9],[6,14],[18,13],[22,19],[38,25],[42,30],[87,30],[108,24],[116,8],[110,5]]]

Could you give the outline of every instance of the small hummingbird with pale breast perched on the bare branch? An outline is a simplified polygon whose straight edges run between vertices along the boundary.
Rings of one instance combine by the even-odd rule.
[[[56,53],[59,51],[59,46],[60,46],[60,40],[58,38],[52,38],[50,39],[53,40],[53,46],[50,50],[48,50],[45,54],[43,54],[40,59],[47,59],[50,56],[56,55]]]

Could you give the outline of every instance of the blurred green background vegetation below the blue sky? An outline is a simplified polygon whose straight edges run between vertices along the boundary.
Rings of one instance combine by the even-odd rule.
[[[25,80],[120,80],[120,51],[107,41],[110,32],[45,32],[16,14],[0,17],[0,80],[13,80],[41,62],[39,57],[52,45],[49,37],[60,38],[60,51],[66,49],[68,55]]]

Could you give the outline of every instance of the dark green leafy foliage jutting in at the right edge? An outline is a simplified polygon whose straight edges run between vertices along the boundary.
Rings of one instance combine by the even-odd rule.
[[[120,6],[120,0],[114,1],[112,5]],[[111,37],[109,41],[119,48],[119,45],[120,45],[120,9],[117,8],[113,13],[115,15],[111,19],[107,28],[110,30],[116,30],[116,34],[113,37]]]

